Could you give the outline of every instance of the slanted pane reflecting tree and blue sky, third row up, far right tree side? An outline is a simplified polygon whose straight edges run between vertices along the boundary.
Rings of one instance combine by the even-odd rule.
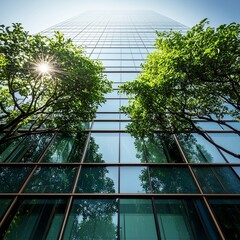
[[[199,134],[179,134],[178,140],[191,163],[225,163],[217,148]]]

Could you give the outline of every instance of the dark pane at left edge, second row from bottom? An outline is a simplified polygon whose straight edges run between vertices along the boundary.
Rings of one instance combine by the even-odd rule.
[[[18,192],[31,167],[0,167],[0,192]]]

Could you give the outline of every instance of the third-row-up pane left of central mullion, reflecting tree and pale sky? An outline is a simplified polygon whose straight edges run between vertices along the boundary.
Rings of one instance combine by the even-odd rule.
[[[119,133],[92,133],[84,162],[117,163]]]

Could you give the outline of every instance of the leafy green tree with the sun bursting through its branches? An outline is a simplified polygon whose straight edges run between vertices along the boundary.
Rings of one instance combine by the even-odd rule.
[[[30,35],[21,24],[0,26],[0,132],[20,128],[76,130],[91,120],[111,83],[103,66],[56,32]]]

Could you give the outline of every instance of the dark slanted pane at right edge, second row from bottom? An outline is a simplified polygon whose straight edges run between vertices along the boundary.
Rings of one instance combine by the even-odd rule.
[[[240,193],[240,181],[230,167],[193,167],[205,193]]]

